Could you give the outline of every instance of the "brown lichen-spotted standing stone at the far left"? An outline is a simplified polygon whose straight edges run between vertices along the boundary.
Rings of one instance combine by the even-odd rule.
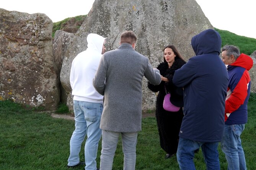
[[[53,23],[45,14],[0,9],[0,99],[56,109]]]

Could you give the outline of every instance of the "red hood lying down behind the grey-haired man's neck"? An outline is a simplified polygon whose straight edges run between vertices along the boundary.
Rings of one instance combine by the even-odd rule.
[[[241,55],[236,59],[236,61],[230,64],[230,66],[243,67],[249,71],[251,67],[253,67],[253,59],[251,59],[250,56],[241,53]]]

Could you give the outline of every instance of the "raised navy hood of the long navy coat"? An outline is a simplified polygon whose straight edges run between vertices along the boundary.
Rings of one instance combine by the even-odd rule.
[[[221,48],[220,34],[213,29],[204,30],[192,37],[191,45],[196,55],[216,52],[219,55]]]

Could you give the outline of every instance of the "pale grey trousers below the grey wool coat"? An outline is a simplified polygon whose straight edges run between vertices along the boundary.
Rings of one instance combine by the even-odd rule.
[[[100,170],[112,170],[113,159],[120,135],[122,137],[122,149],[124,153],[124,170],[135,170],[138,132],[119,133],[106,130],[102,130]]]

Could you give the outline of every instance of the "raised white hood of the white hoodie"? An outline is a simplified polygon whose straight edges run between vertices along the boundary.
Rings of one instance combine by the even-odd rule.
[[[90,50],[96,50],[99,53],[102,52],[103,43],[106,38],[98,35],[98,34],[88,34],[87,36],[87,47]]]

